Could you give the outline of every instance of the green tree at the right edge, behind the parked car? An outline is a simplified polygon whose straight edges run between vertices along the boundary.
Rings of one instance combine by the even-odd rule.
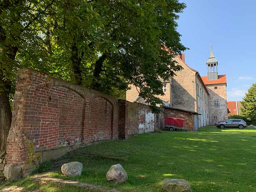
[[[251,123],[256,124],[256,84],[248,89],[243,101],[241,101],[241,115],[248,119]]]

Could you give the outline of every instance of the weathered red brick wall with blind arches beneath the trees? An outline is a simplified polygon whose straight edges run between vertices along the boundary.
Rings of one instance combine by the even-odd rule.
[[[118,100],[31,69],[19,71],[13,108],[6,161],[21,166],[23,176],[45,159],[42,151],[123,139],[152,132],[156,126],[147,105]]]

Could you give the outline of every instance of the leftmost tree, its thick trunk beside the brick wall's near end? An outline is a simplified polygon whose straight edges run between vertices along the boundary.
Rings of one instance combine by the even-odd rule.
[[[35,36],[35,24],[42,19],[55,0],[0,2],[0,150],[6,147],[11,126],[10,95],[14,92],[17,52],[28,39]]]

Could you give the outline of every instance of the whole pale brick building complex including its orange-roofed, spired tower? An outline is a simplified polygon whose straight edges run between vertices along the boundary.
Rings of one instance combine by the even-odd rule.
[[[164,96],[158,96],[169,103],[172,109],[181,109],[184,112],[193,112],[193,129],[209,124],[215,124],[219,120],[227,119],[227,93],[226,75],[218,75],[218,61],[210,47],[210,56],[207,60],[208,76],[201,77],[199,72],[190,68],[185,63],[184,54],[173,58],[183,67],[176,72],[168,82],[163,83]],[[135,86],[126,92],[126,99],[131,102],[142,102]],[[175,110],[176,117],[182,116],[181,110]]]

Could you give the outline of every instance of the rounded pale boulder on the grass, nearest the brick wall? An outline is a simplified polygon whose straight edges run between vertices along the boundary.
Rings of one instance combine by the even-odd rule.
[[[65,163],[61,166],[61,172],[67,176],[81,175],[83,170],[83,164],[80,162]]]

